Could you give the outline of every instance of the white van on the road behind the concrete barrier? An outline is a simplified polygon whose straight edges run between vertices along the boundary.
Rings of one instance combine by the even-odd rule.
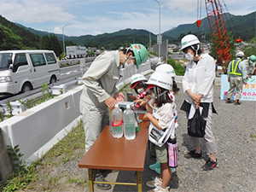
[[[52,84],[61,70],[52,50],[0,51],[0,94],[24,93]]]

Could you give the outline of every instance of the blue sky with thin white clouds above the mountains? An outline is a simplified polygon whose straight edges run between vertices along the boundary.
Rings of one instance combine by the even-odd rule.
[[[197,20],[197,0],[158,0],[160,32]],[[256,10],[255,0],[219,0],[230,14]],[[207,16],[201,0],[201,18]],[[227,9],[224,7],[224,12]],[[1,0],[0,15],[36,30],[67,36],[97,35],[125,28],[159,33],[159,4],[155,0]],[[255,23],[253,24],[255,25]]]

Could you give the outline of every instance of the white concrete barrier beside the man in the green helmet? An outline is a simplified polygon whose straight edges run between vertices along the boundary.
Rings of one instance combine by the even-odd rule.
[[[79,96],[83,86],[41,103],[0,123],[3,141],[19,145],[22,160],[37,160],[79,122]]]

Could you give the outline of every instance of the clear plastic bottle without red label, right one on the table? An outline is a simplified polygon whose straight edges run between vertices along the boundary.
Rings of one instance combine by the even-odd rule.
[[[124,131],[125,139],[131,140],[136,137],[136,119],[134,112],[131,110],[130,105],[126,105],[124,112]]]

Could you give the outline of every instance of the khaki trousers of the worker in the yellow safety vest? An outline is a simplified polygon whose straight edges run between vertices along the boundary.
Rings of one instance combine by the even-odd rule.
[[[235,88],[236,88],[236,99],[241,99],[241,92],[242,92],[242,78],[241,76],[230,76],[230,90],[228,91],[228,98],[231,98]]]

